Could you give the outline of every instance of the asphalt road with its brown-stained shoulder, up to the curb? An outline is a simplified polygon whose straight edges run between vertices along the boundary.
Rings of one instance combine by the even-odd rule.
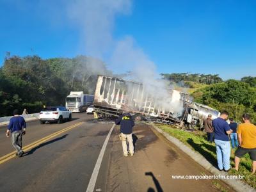
[[[86,113],[73,118],[63,124],[28,122],[26,154],[20,158],[10,154],[14,150],[6,127],[0,127],[0,191],[86,191],[113,122]],[[219,191],[213,180],[173,180],[172,175],[211,174],[148,125],[134,127],[133,157],[122,156],[118,132],[115,126],[94,191]]]

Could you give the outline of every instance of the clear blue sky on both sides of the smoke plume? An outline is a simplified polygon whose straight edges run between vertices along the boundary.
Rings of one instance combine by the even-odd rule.
[[[39,2],[0,0],[0,65],[6,51],[42,58],[88,54],[61,1]],[[159,73],[256,76],[256,1],[138,0],[114,24],[113,38],[132,36]]]

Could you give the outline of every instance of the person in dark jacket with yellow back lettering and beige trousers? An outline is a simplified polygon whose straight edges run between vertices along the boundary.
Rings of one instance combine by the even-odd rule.
[[[124,112],[116,120],[116,125],[120,125],[124,156],[128,156],[127,143],[129,145],[129,154],[130,156],[133,156],[134,148],[132,142],[132,127],[134,127],[134,122],[132,120],[131,114],[128,112]]]

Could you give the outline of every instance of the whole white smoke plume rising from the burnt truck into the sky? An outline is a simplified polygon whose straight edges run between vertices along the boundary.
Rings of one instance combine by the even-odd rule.
[[[131,71],[131,78],[144,84],[149,95],[158,100],[158,106],[181,113],[177,100],[170,100],[166,83],[156,73],[156,65],[143,52],[132,36],[115,40],[115,19],[131,12],[131,0],[77,0],[68,1],[67,14],[81,28],[86,54],[107,60],[112,67]]]

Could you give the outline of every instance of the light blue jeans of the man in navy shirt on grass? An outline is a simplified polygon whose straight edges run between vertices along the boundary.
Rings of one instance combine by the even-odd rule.
[[[230,169],[230,141],[214,140],[216,144],[216,154],[218,167],[227,171]]]

